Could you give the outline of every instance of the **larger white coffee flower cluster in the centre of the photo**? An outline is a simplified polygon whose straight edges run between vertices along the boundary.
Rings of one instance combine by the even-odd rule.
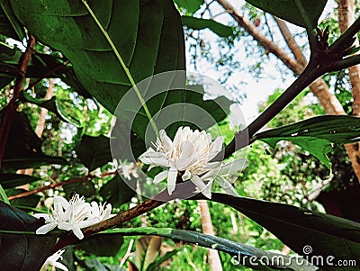
[[[237,194],[236,190],[223,176],[241,170],[247,166],[247,159],[240,158],[222,164],[211,162],[222,149],[222,137],[213,142],[211,135],[205,131],[192,131],[189,127],[180,127],[176,131],[174,140],[161,130],[155,145],[156,150],[149,148],[139,159],[151,167],[166,167],[154,178],[154,184],[167,178],[167,191],[172,194],[175,190],[177,176],[181,173],[182,180],[191,180],[206,197],[211,198],[213,180],[229,194]]]

